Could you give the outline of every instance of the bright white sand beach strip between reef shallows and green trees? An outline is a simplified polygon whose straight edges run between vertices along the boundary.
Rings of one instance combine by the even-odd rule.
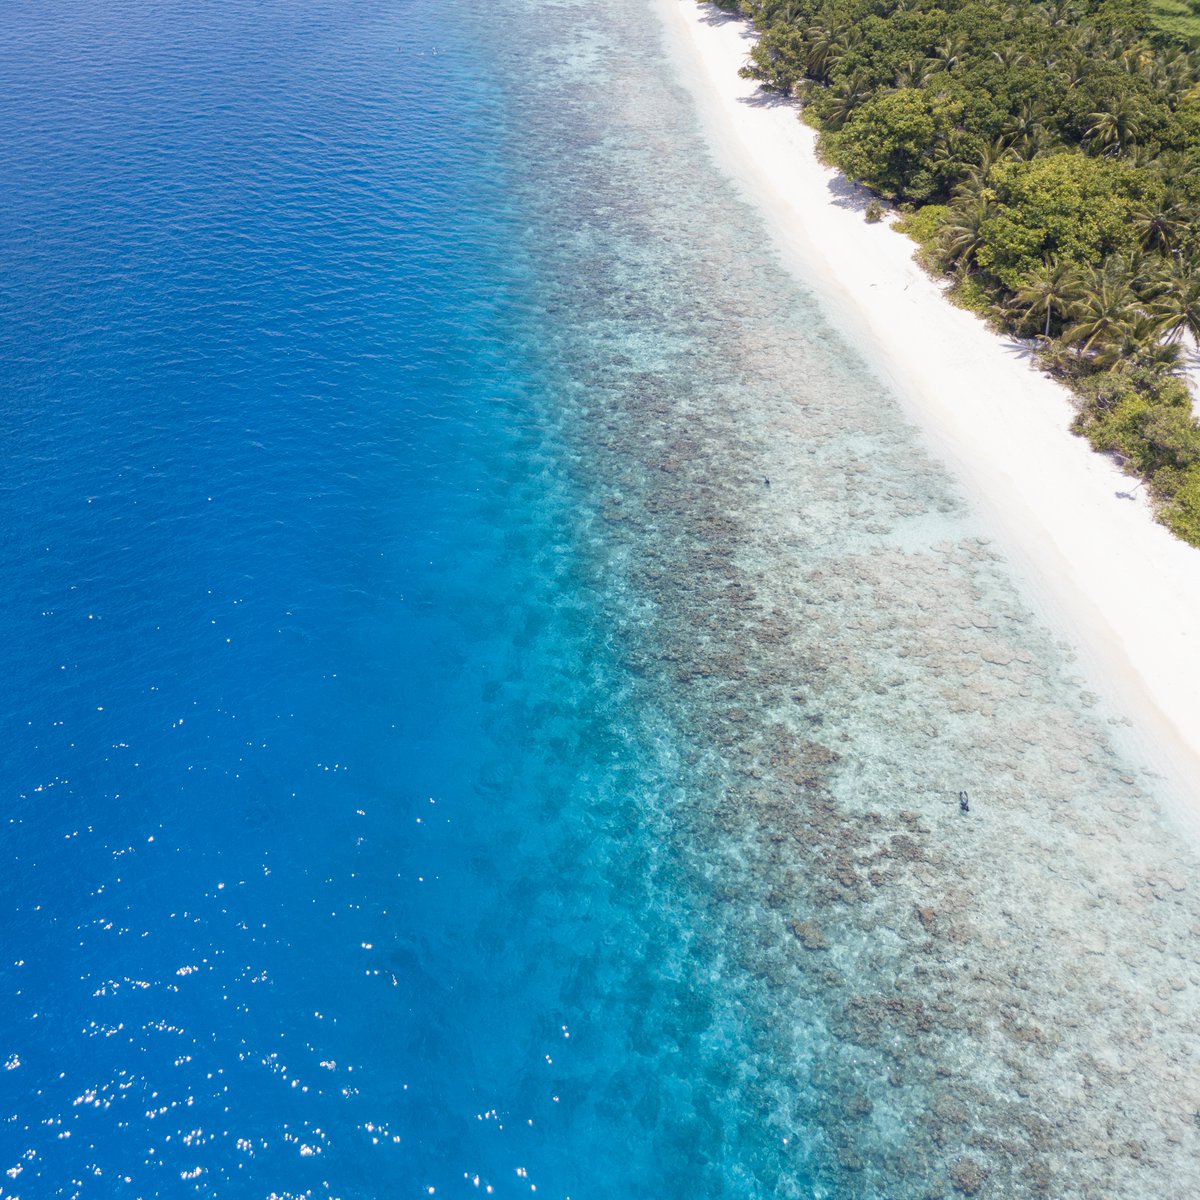
[[[1070,434],[1069,397],[1020,346],[950,305],[907,238],[865,223],[794,106],[738,77],[748,25],[656,4],[719,166],[980,508],[1088,684],[1132,720],[1133,751],[1200,818],[1200,551],[1121,496],[1133,481]]]

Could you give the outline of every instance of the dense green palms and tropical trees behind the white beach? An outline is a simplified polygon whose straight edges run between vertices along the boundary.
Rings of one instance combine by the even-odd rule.
[[[724,0],[744,74],[895,200],[960,302],[1037,337],[1162,520],[1200,545],[1200,52],[1142,0]]]

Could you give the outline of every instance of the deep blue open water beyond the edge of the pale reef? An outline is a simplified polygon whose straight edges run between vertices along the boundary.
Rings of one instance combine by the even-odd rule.
[[[5,1195],[695,1178],[467,16],[0,16]]]

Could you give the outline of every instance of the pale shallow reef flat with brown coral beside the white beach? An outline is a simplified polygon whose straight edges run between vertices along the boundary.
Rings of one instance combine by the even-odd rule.
[[[542,350],[613,643],[695,748],[664,803],[756,1022],[714,1170],[1200,1189],[1200,875],[1156,779],[714,179],[653,48],[626,53],[642,6],[554,11],[522,118],[544,220],[572,214],[540,252]]]

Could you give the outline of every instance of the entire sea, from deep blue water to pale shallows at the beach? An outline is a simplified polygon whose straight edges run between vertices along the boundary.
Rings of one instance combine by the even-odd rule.
[[[0,18],[0,1194],[1195,1190],[1192,853],[659,37]]]

